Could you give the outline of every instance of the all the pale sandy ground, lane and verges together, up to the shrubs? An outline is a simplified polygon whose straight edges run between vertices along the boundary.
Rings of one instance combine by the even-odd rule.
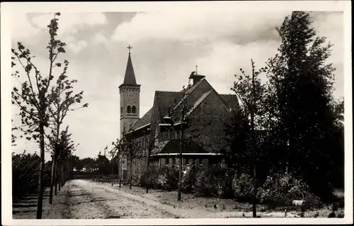
[[[210,208],[207,205],[193,205],[195,199],[184,197],[183,201],[162,201],[163,193],[149,194],[124,191],[108,183],[87,180],[72,180],[53,198],[53,204],[45,200],[45,219],[113,219],[113,218],[228,218],[252,217],[252,213],[232,208]],[[133,189],[134,190],[134,189]],[[138,188],[135,190],[139,190]],[[160,198],[159,198],[160,197]],[[174,197],[174,196],[173,196]],[[185,198],[187,198],[185,200]],[[219,203],[219,202],[217,202]],[[196,204],[196,203],[195,203]],[[221,203],[219,203],[221,204]],[[20,209],[14,218],[34,218],[33,211]],[[284,217],[284,213],[259,213],[261,217]],[[289,213],[287,217],[299,217]]]

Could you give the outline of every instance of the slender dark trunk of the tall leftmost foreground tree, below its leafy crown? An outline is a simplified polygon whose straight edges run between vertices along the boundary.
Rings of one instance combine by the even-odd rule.
[[[38,200],[37,200],[37,219],[42,219],[43,205],[43,174],[45,167],[45,140],[44,140],[44,123],[40,118],[40,177],[38,180]]]

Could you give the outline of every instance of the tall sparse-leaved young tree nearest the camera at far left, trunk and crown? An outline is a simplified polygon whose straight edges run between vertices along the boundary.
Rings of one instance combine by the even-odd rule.
[[[38,180],[38,204],[37,204],[37,219],[42,218],[42,198],[43,198],[43,174],[45,166],[45,127],[48,125],[49,114],[47,106],[49,106],[50,94],[48,89],[50,82],[54,79],[53,69],[57,66],[56,60],[59,54],[65,52],[65,43],[57,40],[58,19],[60,13],[55,13],[54,18],[47,26],[50,33],[50,42],[47,45],[49,52],[49,72],[46,77],[42,77],[40,70],[33,62],[33,55],[30,50],[18,42],[17,50],[11,49],[13,57],[11,57],[11,67],[16,67],[19,64],[22,68],[24,76],[20,72],[15,71],[11,75],[18,81],[21,86],[21,91],[13,87],[12,103],[20,109],[21,123],[23,126],[18,127],[25,135],[27,140],[33,138],[38,140],[40,146],[40,176]],[[27,128],[24,128],[27,127]]]

